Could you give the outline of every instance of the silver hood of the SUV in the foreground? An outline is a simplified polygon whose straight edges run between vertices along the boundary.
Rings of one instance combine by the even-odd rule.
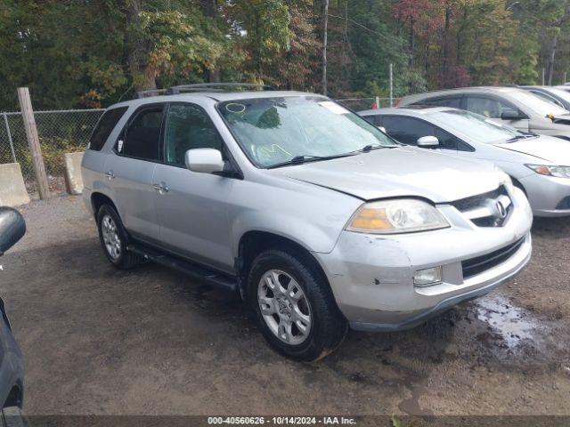
[[[492,191],[505,180],[505,174],[489,163],[412,147],[375,149],[275,171],[363,200],[411,196],[435,203]]]

